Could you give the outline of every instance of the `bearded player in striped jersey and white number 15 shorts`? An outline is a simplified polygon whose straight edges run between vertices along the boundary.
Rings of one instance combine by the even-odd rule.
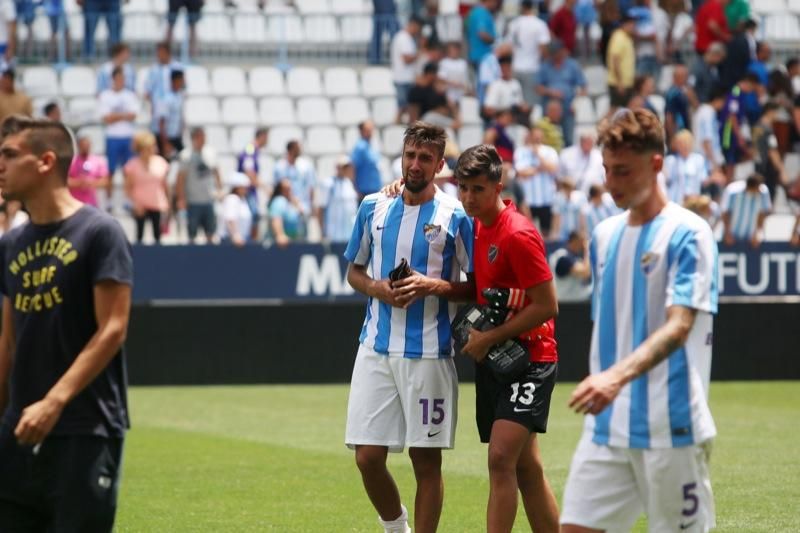
[[[441,450],[452,448],[455,437],[450,322],[453,302],[473,298],[475,284],[472,220],[433,183],[444,165],[445,138],[444,130],[422,122],[406,130],[403,194],[365,197],[345,251],[348,282],[369,297],[345,443],[355,449],[364,488],[387,532],[410,531],[386,469],[387,452],[409,448],[417,479],[414,530],[431,532],[444,497]],[[459,281],[462,273],[467,281]]]

